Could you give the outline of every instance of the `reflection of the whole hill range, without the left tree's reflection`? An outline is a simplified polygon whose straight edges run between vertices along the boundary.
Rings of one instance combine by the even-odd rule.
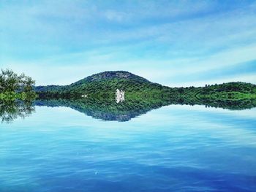
[[[214,100],[214,99],[127,99],[122,103],[116,104],[114,101],[108,99],[50,99],[50,100],[37,100],[34,101],[35,105],[48,106],[48,107],[70,107],[79,112],[83,112],[92,118],[102,120],[118,120],[127,121],[132,118],[143,115],[150,110],[157,109],[162,106],[170,104],[189,104],[189,105],[206,105],[206,107],[221,107],[229,110],[244,110],[252,107],[256,107],[255,100]]]

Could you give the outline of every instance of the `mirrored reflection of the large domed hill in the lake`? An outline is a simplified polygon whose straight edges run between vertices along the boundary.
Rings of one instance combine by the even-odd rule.
[[[145,114],[146,112],[162,107],[162,104],[143,104],[142,102],[132,103],[119,103],[115,101],[91,101],[89,99],[51,99],[51,100],[37,100],[34,101],[37,106],[48,106],[48,107],[70,107],[79,112],[91,116],[92,118],[102,120],[118,120],[127,121],[135,118],[139,115]]]

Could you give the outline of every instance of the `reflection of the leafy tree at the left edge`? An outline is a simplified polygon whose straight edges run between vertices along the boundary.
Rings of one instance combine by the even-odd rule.
[[[2,123],[12,123],[18,117],[25,118],[34,112],[31,101],[1,101],[0,118]]]

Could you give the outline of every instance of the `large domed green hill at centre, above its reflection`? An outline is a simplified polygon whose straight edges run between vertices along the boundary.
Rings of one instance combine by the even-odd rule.
[[[116,71],[93,74],[70,85],[37,86],[34,87],[34,91],[41,97],[80,98],[82,94],[86,94],[108,98],[114,96],[117,88],[139,93],[152,89],[162,89],[164,86],[129,72]]]

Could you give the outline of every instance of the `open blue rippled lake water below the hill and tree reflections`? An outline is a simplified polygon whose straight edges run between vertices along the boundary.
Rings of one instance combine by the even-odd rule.
[[[256,191],[256,109],[116,122],[36,107],[0,124],[0,191]]]

